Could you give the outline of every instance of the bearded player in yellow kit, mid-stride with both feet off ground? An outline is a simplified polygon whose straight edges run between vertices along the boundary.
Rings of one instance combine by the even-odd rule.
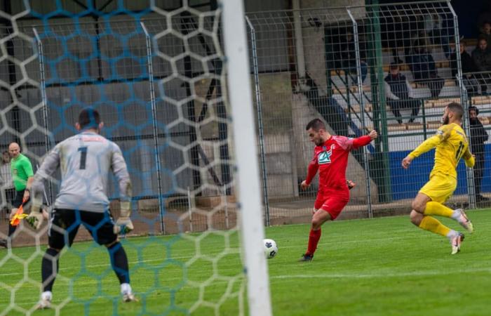
[[[408,169],[412,159],[436,148],[435,164],[429,181],[419,190],[412,201],[411,222],[423,230],[429,230],[447,237],[452,244],[452,254],[460,251],[464,234],[451,230],[433,216],[444,216],[457,220],[467,231],[473,225],[463,209],[452,210],[443,203],[452,196],[457,187],[457,164],[464,158],[466,166],[474,166],[474,157],[469,150],[469,142],[462,129],[464,109],[459,103],[450,103],[443,112],[443,126],[436,135],[425,140],[403,159],[403,168]]]

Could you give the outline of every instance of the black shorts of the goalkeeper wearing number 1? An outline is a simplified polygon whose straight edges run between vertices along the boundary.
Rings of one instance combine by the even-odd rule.
[[[100,245],[111,244],[118,237],[113,232],[114,220],[109,212],[53,209],[48,231],[49,246],[54,249],[72,246],[80,225],[83,225]]]

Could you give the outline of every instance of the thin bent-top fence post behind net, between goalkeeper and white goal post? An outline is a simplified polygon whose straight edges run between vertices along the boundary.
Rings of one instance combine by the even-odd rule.
[[[150,34],[147,31],[143,22],[142,25],[143,32],[145,34],[145,40],[147,42],[147,66],[148,66],[148,77],[150,85],[150,104],[152,105],[152,126],[154,131],[154,147],[155,147],[155,164],[157,169],[157,185],[159,187],[159,214],[160,214],[160,229],[161,233],[166,233],[166,226],[163,223],[164,207],[163,207],[163,197],[162,197],[162,176],[161,176],[161,163],[159,154],[159,131],[157,130],[157,109],[155,104],[155,87],[154,87],[154,70],[152,66],[152,43],[150,39]]]

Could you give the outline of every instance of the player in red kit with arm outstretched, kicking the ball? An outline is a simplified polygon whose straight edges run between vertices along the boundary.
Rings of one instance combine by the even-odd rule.
[[[309,163],[307,178],[302,181],[302,189],[310,186],[312,179],[319,171],[319,187],[314,210],[312,226],[309,234],[307,252],[300,261],[311,261],[314,258],[321,226],[326,220],[335,220],[349,201],[349,188],[346,180],[348,157],[351,150],[368,145],[377,138],[377,131],[367,136],[347,138],[334,136],[325,130],[320,119],[313,119],[307,124],[310,141],[316,144],[314,158]]]

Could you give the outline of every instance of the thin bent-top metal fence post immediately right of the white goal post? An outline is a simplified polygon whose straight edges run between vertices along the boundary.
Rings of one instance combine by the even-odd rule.
[[[264,154],[264,129],[262,125],[262,104],[261,104],[261,90],[259,86],[259,68],[257,67],[257,51],[256,51],[256,31],[254,29],[253,23],[250,22],[249,18],[245,16],[245,21],[250,29],[250,41],[253,51],[253,69],[254,69],[254,86],[256,89],[256,104],[257,104],[257,127],[259,129],[259,150],[261,155],[261,169],[262,169],[262,194],[264,195],[264,215],[265,223],[264,225],[271,225],[269,220],[269,202],[268,202],[268,183],[267,183],[267,173],[266,173],[266,155]]]

